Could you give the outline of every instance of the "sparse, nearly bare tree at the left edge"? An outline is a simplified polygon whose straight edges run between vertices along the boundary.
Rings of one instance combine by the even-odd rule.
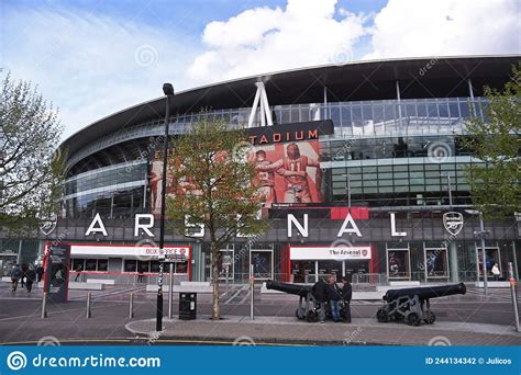
[[[34,229],[56,215],[66,152],[58,149],[57,111],[31,82],[2,81],[0,102],[0,226]]]

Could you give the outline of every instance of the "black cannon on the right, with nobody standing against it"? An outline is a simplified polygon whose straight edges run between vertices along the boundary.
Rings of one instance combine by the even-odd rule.
[[[379,322],[404,320],[409,326],[420,326],[421,321],[433,323],[436,316],[431,310],[430,298],[465,294],[464,283],[442,286],[409,287],[389,289],[384,298],[384,306],[376,312]]]

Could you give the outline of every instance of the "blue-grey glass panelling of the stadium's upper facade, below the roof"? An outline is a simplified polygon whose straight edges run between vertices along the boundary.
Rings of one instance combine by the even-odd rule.
[[[345,201],[350,188],[354,204],[446,204],[448,174],[454,203],[467,204],[469,185],[464,170],[472,159],[462,148],[461,137],[464,117],[473,112],[479,115],[483,105],[486,105],[483,98],[473,102],[468,98],[443,98],[275,105],[273,118],[278,124],[333,121],[334,135],[321,138],[323,188],[329,201]],[[250,111],[219,110],[207,115],[239,126],[247,123]],[[174,116],[171,134],[185,133],[199,116]],[[159,121],[131,127],[124,135],[138,137],[153,133],[162,134]],[[100,147],[109,147],[108,154],[111,141],[113,147],[125,141],[121,134],[111,137],[112,140],[99,141]],[[142,158],[74,175],[65,183],[67,216],[90,218],[99,213],[102,217],[125,218],[137,211],[146,212],[146,184],[147,161]]]

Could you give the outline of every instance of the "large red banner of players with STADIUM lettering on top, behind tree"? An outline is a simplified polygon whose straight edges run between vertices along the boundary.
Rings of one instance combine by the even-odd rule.
[[[247,159],[255,163],[256,181],[264,208],[277,203],[321,203],[320,135],[333,133],[330,120],[248,128],[252,148]],[[163,161],[160,152],[151,161],[151,207],[160,213]],[[197,189],[190,181],[167,179],[167,194]]]

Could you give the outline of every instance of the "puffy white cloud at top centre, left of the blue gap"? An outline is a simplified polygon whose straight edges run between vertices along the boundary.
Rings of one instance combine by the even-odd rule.
[[[188,69],[197,82],[319,64],[345,64],[366,31],[363,14],[335,14],[335,0],[289,0],[286,9],[255,8],[211,22],[202,41],[208,50]]]

